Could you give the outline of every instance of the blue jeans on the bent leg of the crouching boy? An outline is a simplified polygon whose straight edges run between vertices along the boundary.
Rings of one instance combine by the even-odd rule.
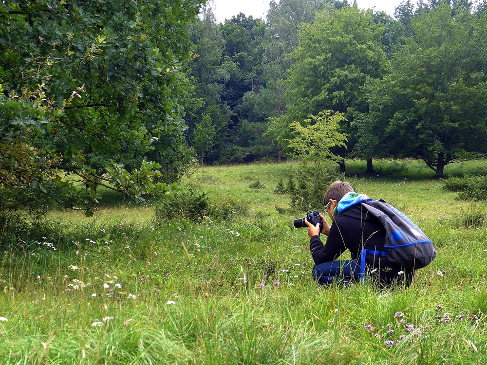
[[[360,266],[355,260],[323,262],[313,269],[313,279],[320,285],[347,284],[359,280]]]

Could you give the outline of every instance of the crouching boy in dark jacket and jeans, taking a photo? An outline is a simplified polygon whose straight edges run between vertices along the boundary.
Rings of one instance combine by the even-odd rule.
[[[325,245],[319,238],[319,224],[314,226],[306,219],[310,251],[315,262],[313,278],[318,284],[339,282],[348,284],[360,279],[360,254],[363,249],[370,250],[366,255],[364,273],[372,276],[385,285],[394,282],[408,286],[414,271],[397,267],[382,255],[386,230],[384,226],[367,210],[362,202],[372,201],[364,194],[356,194],[349,183],[337,181],[332,183],[323,198],[325,211],[332,220],[330,226],[323,215],[322,234],[328,236]],[[349,250],[351,260],[337,261],[337,258]],[[362,273],[363,274],[363,273]]]

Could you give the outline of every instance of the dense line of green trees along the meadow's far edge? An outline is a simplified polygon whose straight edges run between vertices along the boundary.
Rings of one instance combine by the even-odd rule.
[[[367,159],[372,172],[375,157],[414,157],[442,176],[487,152],[485,9],[404,1],[391,17],[282,0],[265,22],[239,14],[217,24],[206,7],[191,30],[202,103],[187,113],[187,141],[200,163],[281,159],[293,152],[293,122],[333,110],[345,114],[346,146],[331,148],[342,172],[345,158]]]

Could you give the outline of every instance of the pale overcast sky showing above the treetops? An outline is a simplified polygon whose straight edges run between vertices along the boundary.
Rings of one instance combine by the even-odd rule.
[[[372,8],[384,10],[394,15],[394,8],[403,0],[357,0],[359,8]],[[209,0],[216,18],[219,22],[229,19],[238,13],[252,15],[254,18],[265,19],[270,0]],[[353,0],[349,1],[353,2]]]

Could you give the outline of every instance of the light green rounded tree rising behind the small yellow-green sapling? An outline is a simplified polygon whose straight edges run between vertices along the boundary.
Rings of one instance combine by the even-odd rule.
[[[287,112],[271,118],[269,128],[279,144],[286,147],[293,122],[322,110],[335,110],[346,113],[341,132],[350,135],[349,149],[353,148],[355,133],[350,122],[360,108],[361,88],[367,78],[381,77],[389,64],[381,35],[372,12],[356,7],[319,13],[313,24],[302,25],[301,42],[289,55],[293,64],[285,81]],[[342,168],[346,151],[343,147],[333,151],[342,156]]]

